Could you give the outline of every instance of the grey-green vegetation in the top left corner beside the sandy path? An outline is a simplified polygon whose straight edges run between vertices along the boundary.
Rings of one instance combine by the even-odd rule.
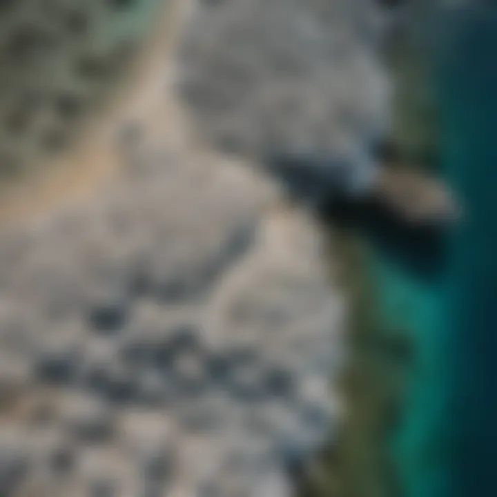
[[[99,3],[0,1],[0,187],[67,150],[120,95],[163,4]]]

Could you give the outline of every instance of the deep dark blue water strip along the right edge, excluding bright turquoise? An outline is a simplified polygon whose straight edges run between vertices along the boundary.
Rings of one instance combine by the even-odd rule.
[[[497,496],[497,6],[455,17],[444,94],[447,175],[467,221],[450,240],[453,496]]]

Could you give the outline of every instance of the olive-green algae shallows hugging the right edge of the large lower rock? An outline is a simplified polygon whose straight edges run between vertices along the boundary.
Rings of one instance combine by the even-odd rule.
[[[309,469],[305,497],[397,497],[389,449],[409,366],[414,360],[407,333],[380,322],[364,248],[355,235],[333,229],[333,256],[342,261],[342,284],[351,301],[351,360],[338,388],[347,416],[332,444]]]

